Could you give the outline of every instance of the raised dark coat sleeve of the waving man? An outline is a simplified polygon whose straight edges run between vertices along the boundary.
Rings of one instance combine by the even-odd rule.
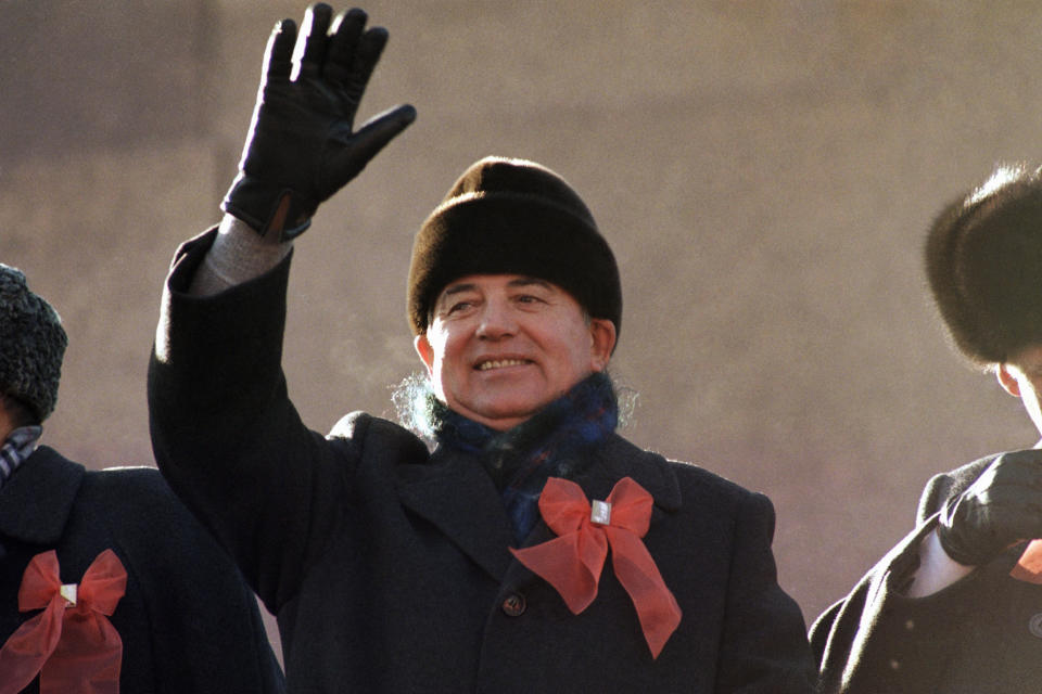
[[[187,242],[163,292],[149,423],[173,489],[272,612],[339,522],[351,446],[300,420],[281,369],[290,258],[209,297],[188,295],[215,230]]]

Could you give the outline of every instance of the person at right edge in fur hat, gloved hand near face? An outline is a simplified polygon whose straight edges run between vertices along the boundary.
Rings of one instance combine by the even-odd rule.
[[[1042,172],[1004,166],[925,245],[952,342],[1042,433]],[[1042,682],[1042,442],[935,476],[915,529],[814,624],[824,692],[1033,692]]]

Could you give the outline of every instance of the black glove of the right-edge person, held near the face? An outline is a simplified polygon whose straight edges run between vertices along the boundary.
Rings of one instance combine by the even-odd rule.
[[[1042,450],[996,458],[966,491],[944,502],[938,537],[950,557],[968,566],[1042,537]]]

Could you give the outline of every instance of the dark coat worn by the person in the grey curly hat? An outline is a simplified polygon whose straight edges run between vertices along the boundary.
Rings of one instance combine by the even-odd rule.
[[[123,694],[284,691],[256,599],[157,471],[88,472],[41,446],[0,487],[0,545],[2,642],[39,614],[18,613],[29,560],[55,550],[62,582],[78,583],[111,549],[127,571],[110,618]]]

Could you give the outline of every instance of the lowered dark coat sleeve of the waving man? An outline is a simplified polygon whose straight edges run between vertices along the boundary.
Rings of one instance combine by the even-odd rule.
[[[717,692],[813,691],[814,665],[799,606],[777,582],[774,506],[745,496],[735,526]]]

